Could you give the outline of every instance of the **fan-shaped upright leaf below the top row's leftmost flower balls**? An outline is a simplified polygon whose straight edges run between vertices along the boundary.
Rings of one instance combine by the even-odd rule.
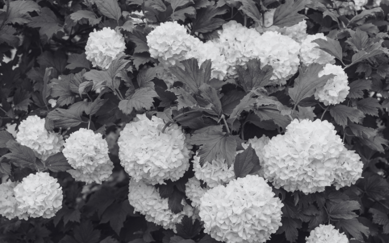
[[[184,69],[171,67],[169,70],[177,79],[193,93],[196,93],[202,84],[207,84],[211,79],[211,60],[206,60],[198,67],[196,58],[187,59],[181,62]]]

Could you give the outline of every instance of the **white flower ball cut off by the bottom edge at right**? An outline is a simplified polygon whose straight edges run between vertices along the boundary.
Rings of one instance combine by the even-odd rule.
[[[349,243],[349,239],[344,233],[333,225],[319,225],[313,229],[309,237],[305,237],[306,243]]]

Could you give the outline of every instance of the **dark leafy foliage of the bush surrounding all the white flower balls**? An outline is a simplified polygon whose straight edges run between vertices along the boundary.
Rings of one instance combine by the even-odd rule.
[[[63,208],[51,219],[0,218],[0,242],[212,243],[214,240],[202,232],[198,221],[192,223],[185,218],[177,225],[175,234],[133,212],[127,200],[129,177],[118,158],[116,140],[120,130],[145,109],[149,110],[148,115],[156,114],[166,121],[192,111],[176,119],[187,133],[212,126],[211,131],[236,147],[232,140],[282,133],[296,103],[314,106],[317,118],[334,123],[346,146],[361,156],[364,174],[355,185],[340,191],[331,187],[304,195],[274,189],[285,205],[283,226],[268,242],[305,242],[311,229],[329,222],[345,231],[351,242],[389,241],[389,83],[386,81],[389,3],[382,1],[379,7],[373,7],[374,2],[369,1],[367,9],[355,12],[354,16],[339,15],[336,6],[327,7],[332,5],[331,0],[94,0],[94,3],[91,0],[0,3],[0,52],[6,57],[0,62],[0,175],[21,180],[34,173],[36,167],[44,166],[64,191]],[[207,76],[209,62],[201,68],[181,71],[185,77],[182,83],[194,88],[187,95],[195,97],[200,105],[188,103],[177,93],[167,91],[165,83],[156,78],[157,68],[153,64],[158,61],[150,57],[146,44],[151,28],[132,18],[139,16],[131,15],[135,10],[145,12],[150,24],[178,20],[188,26],[192,35],[206,41],[217,36],[216,30],[226,21],[233,19],[250,26],[268,8],[275,7],[280,9],[275,15],[278,19],[275,25],[290,26],[306,18],[308,34],[324,33],[331,38],[319,45],[336,56],[336,65],[345,67],[351,87],[345,102],[330,106],[326,112],[311,97],[314,75],[308,68],[299,70],[286,89],[271,93],[271,102],[261,101],[268,109],[253,106],[258,99],[266,98],[258,98],[250,90],[264,87],[266,82],[258,78],[259,64],[252,61],[248,69],[256,77],[243,75],[242,70],[239,79],[223,84]],[[107,71],[92,69],[84,53],[89,33],[103,27],[120,30],[126,41],[126,55],[115,60]],[[196,61],[186,62],[190,65]],[[202,73],[204,79],[194,76],[194,72]],[[211,93],[221,87],[224,98],[207,98],[206,91],[198,90],[203,83],[211,87]],[[99,85],[108,88],[101,93],[91,90]],[[182,84],[178,82],[175,86]],[[301,92],[303,87],[308,91]],[[57,100],[55,107],[48,103],[52,98]],[[59,131],[61,127],[64,135],[88,127],[90,121],[90,128],[104,134],[108,141],[109,156],[115,165],[111,179],[103,185],[85,186],[64,172],[69,169],[66,159],[52,159],[46,164],[27,161],[29,165],[21,166],[6,158],[4,155],[10,153],[6,143],[13,139],[6,130],[17,129],[29,115],[46,117],[46,128]],[[218,130],[220,126],[214,127],[222,116],[231,131],[226,126],[222,132]],[[205,141],[195,144],[207,147]],[[227,152],[225,156],[232,163],[233,156]],[[182,188],[192,176],[190,168],[177,182],[159,186],[161,196],[169,197],[173,211],[181,210]]]

